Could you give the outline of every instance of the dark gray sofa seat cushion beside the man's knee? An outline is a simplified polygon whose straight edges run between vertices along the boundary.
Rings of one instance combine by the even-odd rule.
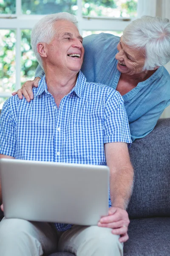
[[[124,256],[170,255],[170,218],[133,219],[128,234]]]

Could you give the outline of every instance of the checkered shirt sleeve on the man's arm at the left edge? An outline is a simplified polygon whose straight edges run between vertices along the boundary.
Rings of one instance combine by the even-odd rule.
[[[10,99],[4,103],[0,114],[0,154],[15,157],[16,122],[9,101]]]

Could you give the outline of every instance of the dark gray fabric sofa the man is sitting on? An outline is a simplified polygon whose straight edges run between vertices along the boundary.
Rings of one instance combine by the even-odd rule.
[[[160,119],[149,135],[133,143],[129,153],[135,177],[127,209],[130,226],[129,240],[124,244],[124,256],[168,256],[170,119]],[[73,255],[58,252],[50,256]]]

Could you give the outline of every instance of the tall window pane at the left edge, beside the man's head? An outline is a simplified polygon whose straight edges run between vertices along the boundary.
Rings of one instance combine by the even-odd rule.
[[[0,29],[0,92],[15,88],[15,30]]]

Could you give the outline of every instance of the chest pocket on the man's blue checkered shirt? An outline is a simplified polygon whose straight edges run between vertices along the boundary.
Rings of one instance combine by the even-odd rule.
[[[74,122],[74,152],[93,156],[104,151],[102,121],[93,118]]]

